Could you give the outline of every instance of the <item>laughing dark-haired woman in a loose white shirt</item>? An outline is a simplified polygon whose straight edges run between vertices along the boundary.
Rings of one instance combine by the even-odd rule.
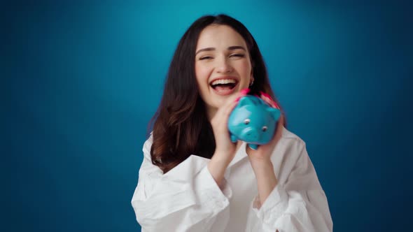
[[[228,117],[246,88],[279,106],[248,29],[200,17],[176,48],[144,144],[132,198],[142,231],[332,231],[305,143],[283,114],[258,150],[231,142]]]

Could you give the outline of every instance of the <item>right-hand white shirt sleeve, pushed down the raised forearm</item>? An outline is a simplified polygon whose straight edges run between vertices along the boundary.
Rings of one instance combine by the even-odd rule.
[[[286,181],[279,182],[262,205],[259,196],[253,199],[246,231],[332,231],[327,198],[302,140],[299,147]]]

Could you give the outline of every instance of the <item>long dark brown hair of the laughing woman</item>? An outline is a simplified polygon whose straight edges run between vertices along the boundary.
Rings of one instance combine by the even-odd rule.
[[[279,104],[269,85],[267,68],[258,45],[244,24],[228,15],[200,17],[179,41],[169,66],[160,106],[148,124],[148,132],[153,127],[152,163],[164,173],[191,154],[210,159],[215,151],[214,133],[195,77],[197,41],[201,31],[210,24],[232,27],[244,38],[253,67],[254,83],[250,94],[265,92]]]

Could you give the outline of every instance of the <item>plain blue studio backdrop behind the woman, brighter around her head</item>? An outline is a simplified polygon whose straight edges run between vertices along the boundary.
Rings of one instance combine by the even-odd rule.
[[[179,38],[209,13],[236,17],[258,42],[334,230],[411,228],[408,4],[31,1],[2,11],[1,231],[139,231],[130,200],[146,125]]]

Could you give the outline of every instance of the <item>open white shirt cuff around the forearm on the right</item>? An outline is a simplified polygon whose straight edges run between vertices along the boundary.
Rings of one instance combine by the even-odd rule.
[[[253,212],[255,212],[262,222],[267,224],[274,224],[276,219],[283,215],[287,207],[288,194],[281,184],[277,184],[276,187],[274,187],[262,205],[259,196],[255,196],[252,202]]]

